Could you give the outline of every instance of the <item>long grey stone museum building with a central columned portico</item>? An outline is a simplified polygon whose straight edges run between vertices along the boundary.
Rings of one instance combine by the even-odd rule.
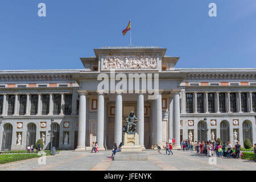
[[[1,150],[38,139],[48,149],[51,125],[59,150],[112,149],[130,111],[146,149],[172,139],[256,143],[256,69],[175,68],[166,50],[101,47],[82,69],[0,71]]]

